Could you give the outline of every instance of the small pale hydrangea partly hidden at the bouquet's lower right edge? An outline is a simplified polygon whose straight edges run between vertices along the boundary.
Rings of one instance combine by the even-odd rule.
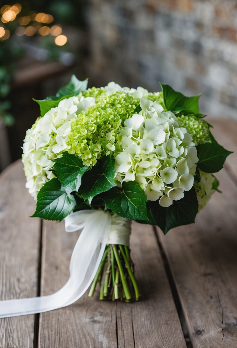
[[[198,210],[201,210],[206,206],[215,192],[215,190],[212,189],[215,177],[211,173],[202,172],[200,169],[199,174],[200,182],[195,182],[194,187],[197,193]]]

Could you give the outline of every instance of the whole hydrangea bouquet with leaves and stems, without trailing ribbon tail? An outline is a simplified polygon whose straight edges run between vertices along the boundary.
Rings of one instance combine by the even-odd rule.
[[[26,132],[22,157],[26,187],[36,200],[32,216],[65,219],[67,231],[84,229],[82,268],[89,256],[88,269],[93,258],[99,260],[90,296],[99,284],[100,299],[139,298],[131,220],[157,225],[165,234],[193,223],[218,191],[213,173],[231,153],[199,113],[200,95],[161,88],[149,93],[114,82],[87,88],[87,80],[72,76],[55,97],[36,100],[41,116]],[[92,255],[93,244],[99,249]]]

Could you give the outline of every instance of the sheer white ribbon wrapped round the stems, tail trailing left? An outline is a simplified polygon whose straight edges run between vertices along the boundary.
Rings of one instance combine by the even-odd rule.
[[[103,210],[82,210],[65,218],[65,229],[82,229],[72,253],[67,283],[52,295],[0,301],[0,318],[43,313],[77,301],[95,277],[106,244],[129,246],[131,221]]]

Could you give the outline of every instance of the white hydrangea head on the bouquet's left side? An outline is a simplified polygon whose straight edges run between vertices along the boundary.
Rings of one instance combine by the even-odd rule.
[[[51,160],[68,150],[66,138],[71,131],[70,121],[94,103],[94,98],[81,95],[63,99],[27,130],[22,161],[26,187],[34,199],[43,184],[54,177],[51,171],[54,162]]]

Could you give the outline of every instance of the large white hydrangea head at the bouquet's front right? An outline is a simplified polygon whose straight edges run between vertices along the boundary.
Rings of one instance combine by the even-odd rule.
[[[115,182],[137,181],[147,199],[168,207],[194,184],[197,149],[171,111],[147,99],[141,111],[124,122],[123,151],[116,153]]]

